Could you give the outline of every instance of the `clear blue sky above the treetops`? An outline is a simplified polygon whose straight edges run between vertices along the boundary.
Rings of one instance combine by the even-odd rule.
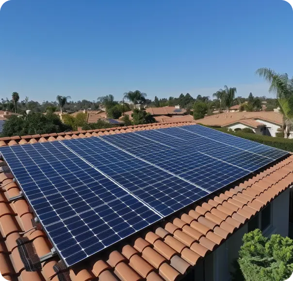
[[[0,6],[0,98],[96,100],[268,94],[254,72],[289,75],[286,0],[7,0]]]

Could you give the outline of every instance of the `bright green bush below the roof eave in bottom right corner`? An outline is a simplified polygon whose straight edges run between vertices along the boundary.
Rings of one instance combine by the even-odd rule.
[[[293,240],[259,229],[244,234],[238,263],[246,281],[284,281],[293,272]],[[237,279],[239,280],[239,279]]]

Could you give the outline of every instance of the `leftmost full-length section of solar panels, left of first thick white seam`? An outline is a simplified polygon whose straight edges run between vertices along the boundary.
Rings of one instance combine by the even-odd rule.
[[[68,266],[162,219],[59,141],[0,152]]]

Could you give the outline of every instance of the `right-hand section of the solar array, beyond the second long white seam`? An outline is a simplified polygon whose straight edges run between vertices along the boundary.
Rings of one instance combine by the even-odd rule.
[[[147,130],[102,139],[209,192],[225,187],[276,160],[237,148],[237,141],[242,140],[239,138],[234,140],[236,145],[232,146],[185,130],[197,126]],[[217,133],[224,135],[222,139],[226,135],[230,137],[222,132]],[[214,139],[218,140],[217,137]],[[247,141],[247,145],[254,151],[260,146],[264,147],[262,150],[267,148],[252,141]],[[267,150],[278,157],[288,154],[271,147]]]

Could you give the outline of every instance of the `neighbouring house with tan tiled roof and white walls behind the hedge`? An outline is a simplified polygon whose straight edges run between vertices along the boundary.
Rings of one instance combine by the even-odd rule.
[[[258,135],[276,137],[278,129],[282,127],[283,118],[281,113],[273,111],[226,112],[195,120],[195,123],[232,130],[251,128]]]

